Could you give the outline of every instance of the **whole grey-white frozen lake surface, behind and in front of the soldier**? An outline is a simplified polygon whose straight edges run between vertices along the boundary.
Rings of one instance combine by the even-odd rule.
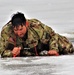
[[[17,11],[39,19],[74,44],[74,0],[0,0],[0,31]],[[0,58],[0,75],[74,75],[74,55]]]

